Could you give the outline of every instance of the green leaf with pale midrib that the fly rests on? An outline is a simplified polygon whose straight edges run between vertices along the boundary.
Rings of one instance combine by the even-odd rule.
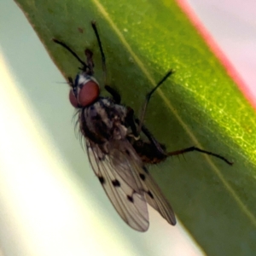
[[[16,0],[49,55],[67,76],[94,52],[101,59],[90,20],[96,20],[107,56],[108,84],[137,113],[148,90],[170,69],[176,73],[153,96],[146,124],[168,150],[195,145],[222,154],[234,166],[199,153],[172,158],[153,175],[179,221],[207,255],[256,251],[255,113],[235,82],[174,1]]]

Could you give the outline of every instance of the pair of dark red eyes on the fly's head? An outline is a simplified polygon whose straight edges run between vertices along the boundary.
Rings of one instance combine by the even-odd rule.
[[[86,107],[94,102],[100,94],[99,85],[95,81],[88,81],[78,92],[78,98],[74,96],[73,90],[69,92],[69,101],[74,108]]]

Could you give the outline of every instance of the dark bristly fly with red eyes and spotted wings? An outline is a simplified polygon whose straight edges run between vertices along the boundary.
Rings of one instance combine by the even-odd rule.
[[[159,143],[143,125],[148,102],[154,91],[168,77],[172,70],[151,90],[143,106],[140,119],[134,116],[132,108],[122,105],[119,92],[106,84],[105,55],[102,42],[91,22],[96,34],[97,43],[102,55],[102,69],[105,76],[105,89],[111,97],[100,96],[100,87],[94,78],[92,52],[85,49],[86,62],[79,58],[73,49],[57,39],[82,65],[81,72],[73,80],[68,78],[71,86],[69,100],[79,111],[79,130],[84,137],[90,165],[96,173],[103,189],[112,202],[113,207],[126,224],[138,231],[148,230],[148,204],[162,215],[169,224],[175,225],[176,218],[171,205],[150,176],[146,164],[160,163],[170,155],[199,151],[230,161],[218,154],[200,148],[185,148],[167,153],[166,147]],[[140,138],[141,133],[148,140]]]

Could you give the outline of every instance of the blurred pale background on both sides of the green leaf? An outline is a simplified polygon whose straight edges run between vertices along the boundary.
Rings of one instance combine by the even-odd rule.
[[[256,3],[189,0],[254,95]],[[75,136],[68,87],[18,6],[0,1],[0,255],[203,255],[154,210],[146,233],[108,201]]]

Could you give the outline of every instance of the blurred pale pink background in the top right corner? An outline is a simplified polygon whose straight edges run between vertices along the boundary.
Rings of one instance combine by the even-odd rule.
[[[256,2],[187,0],[236,73],[256,98]],[[255,106],[255,105],[254,105]]]

